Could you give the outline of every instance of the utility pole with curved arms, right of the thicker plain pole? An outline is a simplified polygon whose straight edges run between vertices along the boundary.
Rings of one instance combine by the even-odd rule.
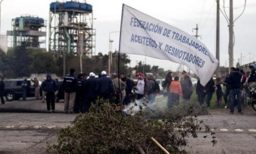
[[[229,1],[229,68],[234,67],[234,55],[233,55],[233,0]]]

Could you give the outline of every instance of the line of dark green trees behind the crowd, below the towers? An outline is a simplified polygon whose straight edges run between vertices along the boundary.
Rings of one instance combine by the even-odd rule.
[[[118,71],[118,53],[112,54],[111,72]],[[70,68],[80,72],[79,56],[66,56],[66,72]],[[151,66],[143,64],[140,61],[135,67],[129,67],[131,60],[126,54],[120,54],[120,72],[131,76],[133,70],[136,72],[151,72],[157,77],[164,78],[167,71],[158,68],[158,66]],[[108,55],[102,54],[94,55],[89,58],[82,57],[82,70],[85,73],[94,72],[101,73],[102,70],[108,70]],[[55,73],[57,76],[62,76],[63,72],[63,57],[55,58],[50,52],[40,49],[25,48],[24,46],[17,46],[4,52],[0,49],[0,73],[5,78],[22,78],[29,77],[32,73]]]

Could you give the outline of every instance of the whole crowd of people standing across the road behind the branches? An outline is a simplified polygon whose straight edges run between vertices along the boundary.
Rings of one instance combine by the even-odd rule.
[[[200,105],[206,100],[206,105],[210,106],[213,93],[216,91],[216,105],[221,107],[222,98],[226,104],[225,108],[230,106],[230,114],[234,113],[234,106],[238,106],[238,113],[242,114],[241,103],[247,105],[247,91],[256,89],[256,65],[250,66],[251,73],[246,76],[245,72],[239,68],[230,68],[230,74],[224,81],[221,78],[213,78],[203,86],[200,84],[200,79],[197,82],[196,94]],[[143,73],[138,72],[136,74],[137,81],[133,81],[126,77],[125,73],[120,73],[120,79],[118,74],[112,73],[110,77],[107,76],[106,71],[102,71],[98,78],[91,72],[89,76],[86,73],[80,73],[75,76],[75,70],[70,69],[70,74],[67,75],[62,83],[64,90],[64,112],[87,112],[91,103],[95,103],[97,98],[103,98],[110,100],[112,103],[123,103],[128,106],[133,99],[137,100],[137,103],[148,102],[149,106],[155,102],[156,95],[160,92],[159,84],[154,79],[152,73],[147,73],[144,77]],[[173,80],[174,79],[174,80]],[[35,87],[35,99],[40,99],[40,84],[37,78],[32,79]],[[120,85],[120,88],[119,88]],[[25,79],[22,83],[23,100],[26,100],[26,93],[28,82]],[[41,84],[44,96],[47,102],[47,111],[55,111],[55,97],[59,90],[58,79],[52,79],[50,74],[47,74],[46,80]],[[166,90],[167,95],[167,107],[172,108],[180,101],[180,97],[183,100],[190,100],[193,93],[193,84],[190,76],[186,71],[182,72],[182,77],[174,76],[173,72],[168,72],[165,81],[163,82],[163,88]],[[224,91],[223,86],[226,86]],[[3,79],[0,78],[0,99],[2,104],[5,103],[4,96],[5,84]],[[133,98],[134,93],[136,98]],[[140,104],[139,103],[139,104]]]

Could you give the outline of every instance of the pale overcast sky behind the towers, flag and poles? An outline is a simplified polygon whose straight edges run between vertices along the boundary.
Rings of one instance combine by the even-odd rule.
[[[49,20],[50,3],[55,0],[3,0],[1,5],[1,34],[6,34],[11,30],[11,19],[24,14],[37,15],[45,20]],[[61,1],[61,0],[59,0]],[[80,0],[83,2],[83,0]],[[108,52],[108,37],[111,31],[120,30],[120,17],[122,3],[125,3],[150,16],[158,18],[170,25],[180,28],[189,34],[192,28],[198,24],[199,40],[215,55],[216,44],[216,1],[215,0],[87,0],[93,5],[94,28],[96,29],[96,53]],[[223,10],[223,1],[220,0]],[[234,18],[243,9],[244,0],[233,0]],[[225,1],[225,6],[229,6],[229,0]],[[226,8],[229,15],[229,8]],[[228,43],[229,33],[227,22],[220,14],[220,65],[229,65]],[[234,24],[235,64],[243,54],[242,63],[256,61],[256,1],[247,0],[247,5],[243,15]],[[118,49],[119,33],[111,34],[113,49]],[[48,42],[48,40],[47,40]],[[250,54],[251,53],[251,54]],[[250,55],[250,56],[249,56]],[[244,57],[245,56],[245,57]],[[131,66],[136,65],[136,61],[145,61],[145,56],[130,55]],[[158,65],[164,69],[176,70],[178,64],[166,60],[146,58],[146,63]]]

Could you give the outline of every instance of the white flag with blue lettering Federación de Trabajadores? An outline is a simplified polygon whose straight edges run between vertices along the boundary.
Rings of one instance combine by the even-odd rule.
[[[186,32],[123,4],[120,53],[146,55],[189,67],[203,86],[218,60],[206,46]]]

